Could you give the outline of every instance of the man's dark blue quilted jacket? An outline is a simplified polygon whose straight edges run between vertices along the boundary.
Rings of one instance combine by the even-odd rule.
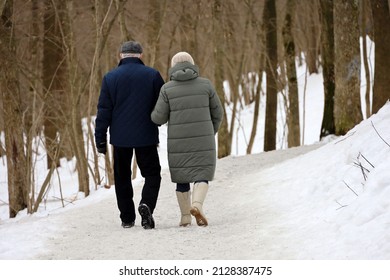
[[[102,82],[96,116],[96,144],[107,141],[117,147],[157,145],[158,127],[150,118],[164,84],[160,73],[139,58],[124,58]]]

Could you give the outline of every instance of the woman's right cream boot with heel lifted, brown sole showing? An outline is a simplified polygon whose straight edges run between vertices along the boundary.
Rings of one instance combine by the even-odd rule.
[[[206,198],[209,184],[205,182],[199,182],[194,184],[192,192],[192,207],[191,215],[195,217],[198,226],[207,226],[207,218],[203,213],[203,202]]]

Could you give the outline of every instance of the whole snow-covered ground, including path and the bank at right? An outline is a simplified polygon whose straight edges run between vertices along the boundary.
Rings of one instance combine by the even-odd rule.
[[[178,227],[165,169],[155,230],[139,218],[121,228],[114,190],[102,188],[65,209],[3,221],[0,259],[388,260],[390,146],[379,135],[390,142],[389,121],[387,104],[329,143],[218,160],[206,228]],[[138,181],[136,202],[140,189]]]

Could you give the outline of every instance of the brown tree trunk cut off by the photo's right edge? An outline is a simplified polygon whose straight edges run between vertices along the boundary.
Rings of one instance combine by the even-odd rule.
[[[390,99],[390,10],[387,0],[371,0],[374,19],[375,71],[372,113]]]

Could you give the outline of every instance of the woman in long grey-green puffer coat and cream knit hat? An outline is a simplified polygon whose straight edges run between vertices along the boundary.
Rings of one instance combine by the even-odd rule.
[[[215,134],[222,122],[223,109],[211,82],[199,76],[190,54],[172,57],[170,81],[162,86],[152,121],[168,122],[168,163],[181,211],[180,226],[207,226],[203,212],[209,181],[216,166]],[[192,191],[190,183],[194,183]]]

